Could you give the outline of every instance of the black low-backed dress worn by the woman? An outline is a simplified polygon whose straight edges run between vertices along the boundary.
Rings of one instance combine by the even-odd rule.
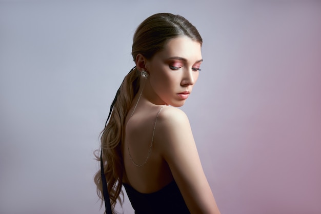
[[[135,214],[190,213],[175,180],[152,193],[141,193],[128,184],[123,185]]]

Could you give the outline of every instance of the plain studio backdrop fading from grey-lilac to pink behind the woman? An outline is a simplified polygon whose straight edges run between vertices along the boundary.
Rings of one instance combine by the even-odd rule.
[[[204,38],[183,109],[222,214],[320,214],[320,2],[202,0],[0,1],[0,213],[103,213],[93,151],[157,12]]]

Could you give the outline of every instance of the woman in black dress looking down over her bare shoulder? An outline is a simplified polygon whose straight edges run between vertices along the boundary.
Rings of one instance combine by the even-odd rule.
[[[104,170],[94,179],[98,196],[103,199],[107,183],[105,204],[113,212],[124,185],[138,214],[219,213],[188,118],[175,108],[184,105],[197,81],[201,46],[196,28],[179,15],[154,14],[138,26],[136,66],[111,106],[102,159],[96,155]]]

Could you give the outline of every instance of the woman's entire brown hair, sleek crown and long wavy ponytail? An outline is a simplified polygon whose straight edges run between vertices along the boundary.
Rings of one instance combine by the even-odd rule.
[[[197,29],[184,17],[171,13],[157,13],[148,17],[136,29],[133,37],[132,56],[135,61],[138,53],[150,60],[155,53],[162,51],[172,38],[188,36],[193,41],[202,45],[203,40]],[[122,204],[119,194],[123,194],[123,155],[122,139],[124,134],[124,123],[132,105],[132,101],[139,90],[139,71],[134,67],[126,76],[116,93],[115,100],[111,106],[110,119],[101,133],[101,151],[103,158],[104,173],[106,177],[110,203],[115,213],[117,200]],[[97,161],[99,149],[95,151]],[[104,200],[101,170],[98,170],[94,177],[97,185],[97,194]]]

